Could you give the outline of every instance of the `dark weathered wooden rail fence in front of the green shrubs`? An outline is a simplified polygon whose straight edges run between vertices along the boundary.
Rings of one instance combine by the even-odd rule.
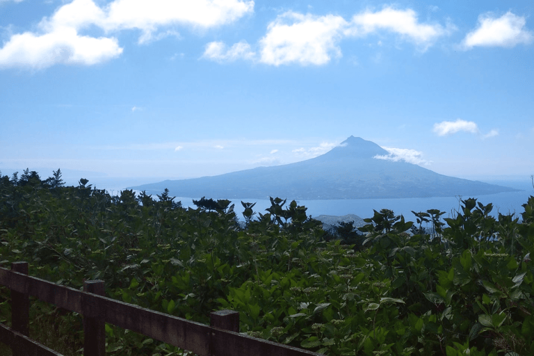
[[[83,283],[83,291],[28,275],[27,262],[0,268],[0,285],[11,290],[11,328],[0,324],[0,341],[14,356],[60,356],[29,338],[29,296],[83,316],[83,355],[106,355],[105,323],[133,330],[200,356],[304,356],[318,355],[240,334],[239,313],[211,313],[211,325],[154,312],[104,296],[101,280]]]

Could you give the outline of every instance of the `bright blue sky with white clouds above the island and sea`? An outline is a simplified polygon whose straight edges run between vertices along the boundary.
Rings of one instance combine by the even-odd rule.
[[[200,177],[350,135],[534,174],[532,1],[0,0],[0,170]]]

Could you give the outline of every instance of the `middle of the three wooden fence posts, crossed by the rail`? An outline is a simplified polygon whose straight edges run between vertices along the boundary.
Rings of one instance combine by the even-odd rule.
[[[104,281],[83,282],[83,291],[105,296]],[[90,306],[89,306],[90,307]],[[83,356],[106,355],[106,323],[101,318],[83,316]]]

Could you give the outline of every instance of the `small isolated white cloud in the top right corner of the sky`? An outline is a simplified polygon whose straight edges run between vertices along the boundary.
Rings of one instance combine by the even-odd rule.
[[[531,43],[534,35],[525,29],[525,24],[525,17],[510,12],[499,18],[492,17],[489,13],[480,15],[478,28],[465,36],[462,47],[514,47],[520,43]]]

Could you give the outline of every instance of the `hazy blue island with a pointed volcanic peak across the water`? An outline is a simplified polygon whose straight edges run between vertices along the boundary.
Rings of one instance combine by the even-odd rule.
[[[413,163],[378,159],[389,152],[350,136],[329,152],[297,163],[200,177],[165,180],[129,189],[177,197],[296,200],[472,196],[514,188],[440,175]]]

